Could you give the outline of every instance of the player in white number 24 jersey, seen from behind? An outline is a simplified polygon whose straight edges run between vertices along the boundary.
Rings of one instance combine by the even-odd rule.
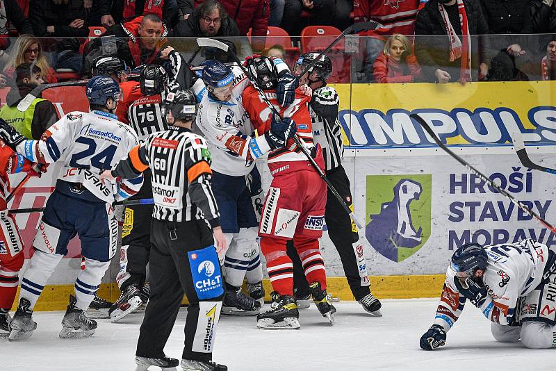
[[[0,137],[19,154],[37,163],[63,163],[33,242],[34,254],[22,279],[10,340],[28,338],[36,329],[31,318],[33,307],[76,235],[81,240],[85,269],[77,274],[75,296],[70,295],[60,338],[86,337],[95,332],[97,322],[87,318],[83,310],[95,297],[116,252],[118,225],[112,204],[131,197],[142,184],[142,176],[108,186],[99,180],[101,170],[111,169],[138,139],[133,129],[115,119],[121,90],[113,79],[95,76],[85,92],[91,112],[68,113],[41,140],[26,140],[11,126],[0,125]]]

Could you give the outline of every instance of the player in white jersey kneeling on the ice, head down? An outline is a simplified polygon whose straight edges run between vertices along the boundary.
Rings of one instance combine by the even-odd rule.
[[[420,347],[444,345],[466,300],[490,320],[502,343],[521,340],[525,347],[556,347],[556,250],[532,239],[486,245],[468,243],[452,256],[434,324]]]

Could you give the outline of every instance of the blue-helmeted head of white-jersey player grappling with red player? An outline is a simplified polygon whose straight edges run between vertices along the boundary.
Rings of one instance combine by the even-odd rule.
[[[234,74],[231,68],[218,60],[206,60],[201,65],[201,79],[208,94],[218,101],[229,101],[231,90],[234,88]]]

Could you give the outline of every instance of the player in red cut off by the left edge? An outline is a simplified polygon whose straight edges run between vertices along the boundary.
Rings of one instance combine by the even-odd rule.
[[[13,305],[17,283],[17,274],[25,260],[23,243],[19,236],[17,224],[12,214],[8,213],[6,197],[10,188],[8,174],[27,172],[31,176],[40,176],[45,167],[16,154],[10,147],[0,140],[0,338],[10,333],[10,315],[8,312]]]

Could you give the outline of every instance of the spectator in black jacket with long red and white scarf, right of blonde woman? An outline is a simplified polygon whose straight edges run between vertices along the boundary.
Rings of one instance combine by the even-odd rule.
[[[479,56],[485,60],[488,42],[471,35],[486,33],[489,26],[477,0],[429,0],[417,15],[415,27],[415,54],[423,79],[439,83],[477,81],[479,68],[482,78],[488,68],[486,63],[479,65]],[[422,35],[432,37],[419,37]]]

